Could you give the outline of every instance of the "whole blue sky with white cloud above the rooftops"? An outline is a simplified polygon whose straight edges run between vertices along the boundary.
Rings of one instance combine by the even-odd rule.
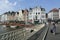
[[[48,13],[53,8],[60,8],[60,0],[0,0],[0,14],[7,11],[19,11],[41,6]]]

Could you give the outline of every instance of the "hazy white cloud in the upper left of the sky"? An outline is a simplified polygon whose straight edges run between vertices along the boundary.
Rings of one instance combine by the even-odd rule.
[[[16,6],[17,2],[11,3],[9,0],[0,0],[0,14],[14,10],[14,7]]]

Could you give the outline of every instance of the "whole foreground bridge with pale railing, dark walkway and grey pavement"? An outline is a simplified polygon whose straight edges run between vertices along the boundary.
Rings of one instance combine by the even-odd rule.
[[[52,24],[39,24],[26,30],[26,27],[0,34],[0,40],[60,40],[60,25],[57,25],[56,35],[50,32]],[[32,31],[33,30],[33,31]]]

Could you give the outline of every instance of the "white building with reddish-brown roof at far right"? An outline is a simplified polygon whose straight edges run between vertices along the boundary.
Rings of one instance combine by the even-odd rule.
[[[60,9],[54,8],[48,13],[48,19],[58,20],[60,19]]]

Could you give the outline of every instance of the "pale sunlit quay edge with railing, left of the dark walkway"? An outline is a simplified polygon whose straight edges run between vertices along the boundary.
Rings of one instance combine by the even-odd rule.
[[[44,24],[35,25],[34,27],[30,28],[30,30],[27,30],[27,29],[29,29],[28,27],[23,27],[21,29],[3,32],[0,34],[0,40],[27,40],[32,35],[37,33],[37,31],[39,31],[41,28],[43,28],[42,25],[44,26]],[[41,26],[41,27],[39,27],[39,26]]]

